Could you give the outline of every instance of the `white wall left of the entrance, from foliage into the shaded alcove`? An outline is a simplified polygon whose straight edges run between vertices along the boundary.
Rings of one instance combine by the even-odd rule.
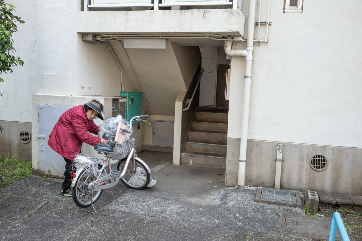
[[[9,1],[25,21],[17,24],[14,33],[14,55],[21,57],[24,66],[2,75],[1,120],[31,122],[26,110],[31,109],[33,94],[119,95],[121,74],[108,47],[84,42],[76,32],[80,2]],[[132,91],[126,76],[123,81],[125,90]]]

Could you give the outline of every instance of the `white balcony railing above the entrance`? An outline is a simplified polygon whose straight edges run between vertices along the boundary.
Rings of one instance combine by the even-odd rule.
[[[124,8],[124,7],[148,7],[159,10],[159,7],[180,6],[227,6],[240,8],[241,0],[84,0],[84,11],[92,8]]]

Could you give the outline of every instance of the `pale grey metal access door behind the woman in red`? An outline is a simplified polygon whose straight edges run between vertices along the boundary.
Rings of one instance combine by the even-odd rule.
[[[66,162],[48,146],[48,140],[59,117],[72,107],[38,105],[38,171],[41,175],[64,177]]]

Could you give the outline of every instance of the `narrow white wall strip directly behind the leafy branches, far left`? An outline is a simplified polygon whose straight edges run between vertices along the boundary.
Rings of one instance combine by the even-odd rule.
[[[6,121],[31,122],[31,96],[37,91],[39,84],[35,76],[37,72],[37,1],[31,0],[22,7],[24,1],[10,0],[16,8],[15,15],[21,17],[25,24],[17,23],[18,32],[13,34],[13,46],[24,61],[24,66],[13,67],[13,73],[1,74],[4,82],[0,83],[0,118]]]

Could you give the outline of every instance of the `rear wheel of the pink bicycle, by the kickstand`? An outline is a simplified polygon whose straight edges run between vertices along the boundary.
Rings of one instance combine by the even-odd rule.
[[[98,165],[98,170],[99,169],[101,169],[101,165]],[[105,170],[103,170],[103,172],[105,172]],[[88,190],[88,185],[96,179],[97,177],[94,175],[94,171],[89,167],[80,173],[75,182],[75,186],[72,188],[72,198],[77,206],[82,208],[89,207],[101,197],[103,190],[97,191],[93,196],[92,192]]]

